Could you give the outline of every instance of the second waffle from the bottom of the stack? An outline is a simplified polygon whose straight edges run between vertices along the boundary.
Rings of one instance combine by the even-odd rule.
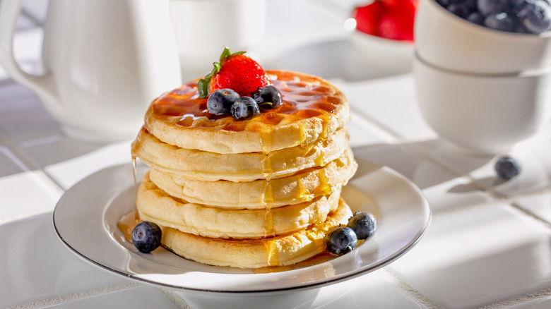
[[[261,238],[324,222],[327,214],[337,209],[340,190],[312,202],[263,210],[225,210],[174,199],[148,176],[137,194],[136,206],[143,221],[206,237]]]

